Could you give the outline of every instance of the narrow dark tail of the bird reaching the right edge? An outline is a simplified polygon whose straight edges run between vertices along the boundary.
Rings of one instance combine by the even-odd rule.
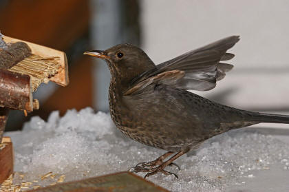
[[[279,114],[257,113],[255,116],[253,116],[253,121],[289,124],[289,116]]]

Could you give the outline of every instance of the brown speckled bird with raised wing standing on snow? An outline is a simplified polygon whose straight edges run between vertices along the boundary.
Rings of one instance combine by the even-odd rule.
[[[140,162],[132,172],[178,175],[164,168],[205,140],[232,129],[261,122],[289,124],[289,116],[236,109],[188,90],[207,91],[232,70],[228,53],[239,36],[228,36],[156,65],[129,43],[84,54],[102,58],[111,73],[109,111],[120,131],[144,145],[167,153]],[[225,63],[224,63],[225,62]]]

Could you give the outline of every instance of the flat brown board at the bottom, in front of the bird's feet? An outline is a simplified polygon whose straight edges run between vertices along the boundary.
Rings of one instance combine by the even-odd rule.
[[[63,184],[56,184],[45,188],[32,190],[34,192],[135,192],[148,191],[159,192],[164,191],[160,186],[156,186],[148,180],[144,180],[140,176],[130,172],[112,173],[96,178],[89,178],[76,182],[67,182]],[[30,191],[30,192],[32,192]],[[167,191],[169,192],[169,191]]]

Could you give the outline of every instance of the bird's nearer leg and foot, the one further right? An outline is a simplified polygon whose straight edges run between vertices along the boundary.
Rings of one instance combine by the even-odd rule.
[[[144,175],[144,178],[147,178],[151,175],[154,175],[158,172],[162,172],[165,175],[174,175],[176,178],[178,178],[178,175],[176,175],[175,173],[171,173],[169,171],[165,171],[164,168],[167,167],[169,164],[171,164],[174,160],[176,160],[177,158],[179,158],[180,156],[184,155],[184,153],[188,152],[189,149],[184,149],[182,151],[179,151],[178,153],[176,153],[174,156],[172,156],[171,158],[169,158],[169,160],[163,162],[162,164],[160,164],[158,167],[152,168],[152,169],[147,169],[147,171],[145,172],[149,172],[147,173],[147,175]]]

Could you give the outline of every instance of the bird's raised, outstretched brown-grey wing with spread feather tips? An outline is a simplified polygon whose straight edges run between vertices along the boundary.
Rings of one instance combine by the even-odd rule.
[[[229,36],[156,65],[152,70],[134,78],[131,87],[125,94],[132,94],[131,90],[144,89],[151,83],[159,82],[197,91],[213,89],[216,82],[224,78],[226,72],[233,68],[233,65],[220,63],[220,61],[228,61],[234,57],[234,54],[226,53],[226,51],[237,41],[239,41],[239,36]],[[176,71],[178,74],[181,72],[182,77],[178,75],[175,78],[168,78],[167,75],[164,75],[167,72]],[[158,78],[156,78],[157,76]],[[137,87],[138,89],[136,89]]]

